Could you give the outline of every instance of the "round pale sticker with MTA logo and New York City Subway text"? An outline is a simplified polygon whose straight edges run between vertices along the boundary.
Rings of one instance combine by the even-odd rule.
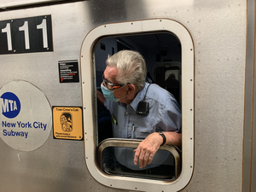
[[[40,148],[49,138],[52,113],[44,93],[26,81],[12,81],[0,90],[0,137],[20,151]]]

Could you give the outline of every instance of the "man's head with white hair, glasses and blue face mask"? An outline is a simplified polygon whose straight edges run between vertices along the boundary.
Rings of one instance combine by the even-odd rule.
[[[143,56],[136,51],[122,50],[108,56],[106,64],[102,77],[104,96],[112,101],[131,103],[145,86],[147,67]]]

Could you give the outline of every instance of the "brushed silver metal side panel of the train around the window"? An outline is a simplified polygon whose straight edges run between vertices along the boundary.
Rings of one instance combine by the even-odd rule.
[[[177,20],[195,44],[195,170],[182,191],[241,191],[246,14],[243,0],[97,0],[1,12],[1,20],[52,15],[54,51],[0,55],[0,87],[22,79],[51,106],[81,106],[81,85],[60,84],[57,63],[79,60],[90,30],[127,20]],[[83,142],[51,136],[32,152],[0,139],[1,191],[123,191],[90,176]]]

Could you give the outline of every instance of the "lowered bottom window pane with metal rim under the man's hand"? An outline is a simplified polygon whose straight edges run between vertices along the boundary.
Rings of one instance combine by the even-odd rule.
[[[140,142],[140,140],[116,138],[104,140],[99,144],[97,150],[98,165],[108,175],[165,181],[174,180],[179,176],[181,172],[181,154],[175,146],[160,147],[157,154],[154,154],[152,163],[143,170],[135,166],[133,161],[129,162],[126,157],[134,158],[133,150],[137,148]]]

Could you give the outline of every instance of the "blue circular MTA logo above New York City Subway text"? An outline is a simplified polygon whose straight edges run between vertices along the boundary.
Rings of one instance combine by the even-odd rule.
[[[14,93],[3,93],[0,104],[3,115],[9,119],[15,118],[20,113],[20,100]]]

